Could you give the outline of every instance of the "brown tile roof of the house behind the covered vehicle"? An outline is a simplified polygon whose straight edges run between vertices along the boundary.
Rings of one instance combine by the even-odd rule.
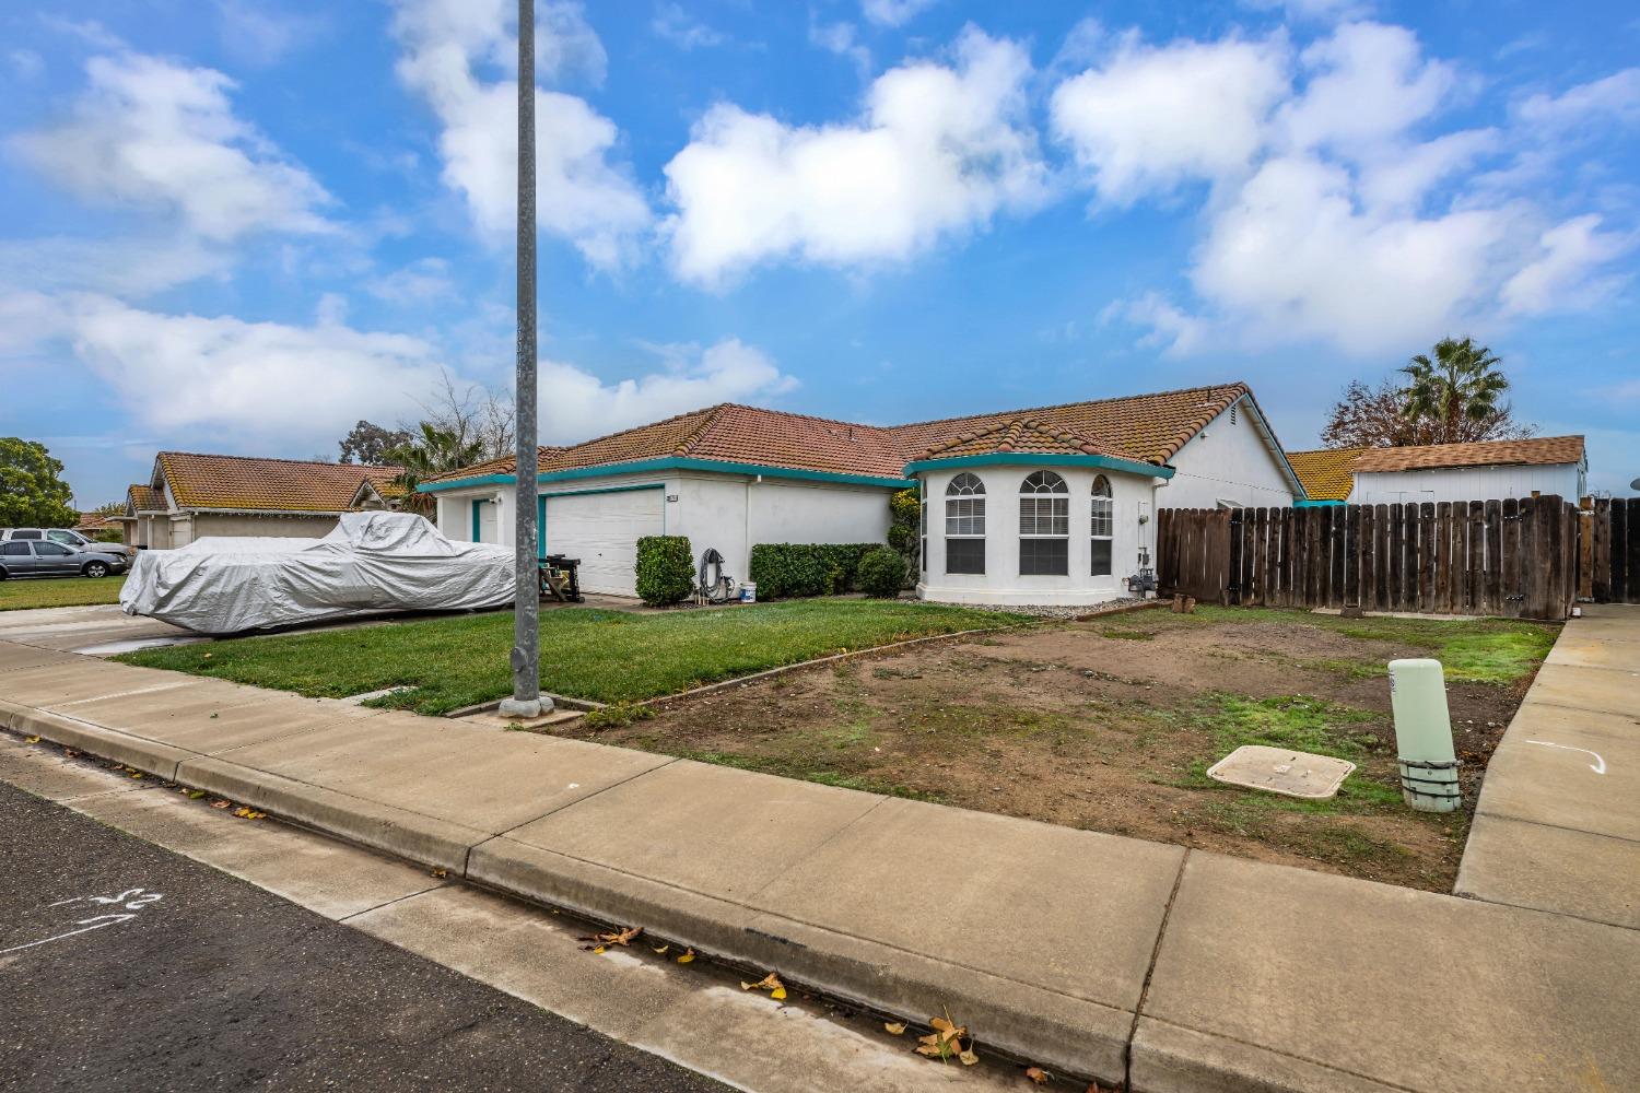
[[[177,508],[302,513],[344,513],[361,482],[385,490],[399,474],[399,467],[195,452],[159,452],[156,469]]]

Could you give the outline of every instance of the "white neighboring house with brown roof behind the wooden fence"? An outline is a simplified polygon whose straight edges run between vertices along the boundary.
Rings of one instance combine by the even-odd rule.
[[[1535,493],[1576,501],[1588,492],[1581,436],[1369,447],[1353,464],[1351,505],[1491,501]]]

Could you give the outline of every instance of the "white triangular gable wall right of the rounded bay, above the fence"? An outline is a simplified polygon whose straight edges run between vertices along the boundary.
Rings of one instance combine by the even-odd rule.
[[[1241,508],[1292,505],[1292,483],[1271,452],[1243,398],[1186,441],[1174,457],[1176,475],[1156,490],[1161,508]]]

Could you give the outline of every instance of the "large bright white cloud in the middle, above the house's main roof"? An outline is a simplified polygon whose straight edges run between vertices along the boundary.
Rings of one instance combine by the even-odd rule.
[[[881,75],[851,125],[790,126],[718,105],[666,166],[677,274],[713,285],[758,262],[900,261],[1046,193],[1025,118],[1025,49],[969,28],[954,64]]]

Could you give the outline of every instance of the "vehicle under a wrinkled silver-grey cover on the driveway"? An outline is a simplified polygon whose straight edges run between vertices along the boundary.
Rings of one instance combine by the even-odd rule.
[[[139,551],[120,592],[126,615],[203,634],[512,600],[512,547],[454,542],[413,513],[343,513],[323,539],[202,537]]]

